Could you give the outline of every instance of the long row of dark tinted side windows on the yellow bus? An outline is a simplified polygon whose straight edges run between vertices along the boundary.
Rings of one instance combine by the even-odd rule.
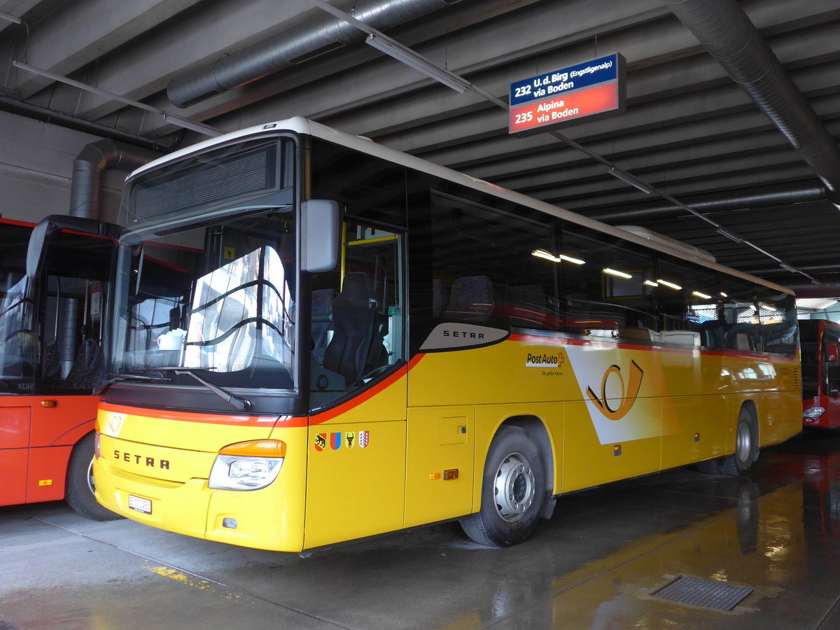
[[[431,304],[433,318],[632,343],[795,352],[795,305],[785,292],[585,228],[560,231],[512,211],[500,214],[476,200],[433,195],[430,215],[431,260],[421,263],[430,267],[431,294],[420,302]]]

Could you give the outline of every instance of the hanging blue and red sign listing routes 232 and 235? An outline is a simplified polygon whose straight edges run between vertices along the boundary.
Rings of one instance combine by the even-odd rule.
[[[510,133],[624,111],[624,57],[615,53],[511,84]]]

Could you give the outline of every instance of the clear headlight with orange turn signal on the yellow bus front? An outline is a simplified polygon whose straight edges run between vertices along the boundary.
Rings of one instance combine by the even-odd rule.
[[[239,442],[216,455],[208,486],[216,490],[259,490],[280,474],[286,444],[276,439]]]

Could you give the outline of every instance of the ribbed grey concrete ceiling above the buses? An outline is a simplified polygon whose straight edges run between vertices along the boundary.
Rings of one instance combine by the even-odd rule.
[[[21,20],[0,14],[0,109],[159,150],[206,137],[16,61],[222,131],[302,115],[607,223],[643,225],[802,293],[840,294],[833,244],[840,210],[801,153],[664,0],[426,0],[413,13],[399,13],[398,0],[332,3],[348,11],[356,4],[354,14],[371,24],[384,19],[376,28],[506,100],[513,81],[620,52],[626,112],[559,131],[711,223],[628,186],[552,135],[507,134],[501,108],[365,45],[361,31],[310,0],[0,0],[0,12]],[[827,133],[840,135],[837,0],[738,4]],[[344,39],[186,108],[167,97],[171,81],[238,60],[266,39],[283,45],[329,20],[342,24]]]

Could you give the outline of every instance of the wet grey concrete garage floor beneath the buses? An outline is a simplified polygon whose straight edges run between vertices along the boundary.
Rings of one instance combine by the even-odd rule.
[[[803,433],[743,479],[680,469],[561,497],[512,549],[447,523],[301,558],[3,507],[0,630],[829,630],[838,559],[840,433]],[[680,576],[753,591],[727,612],[654,596]]]

